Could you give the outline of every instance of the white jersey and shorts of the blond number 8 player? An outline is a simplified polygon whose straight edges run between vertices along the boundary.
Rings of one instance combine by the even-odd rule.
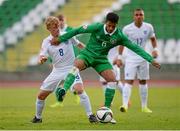
[[[65,80],[69,71],[72,69],[73,62],[75,60],[73,44],[78,44],[72,38],[66,42],[60,43],[58,46],[53,46],[50,43],[52,38],[52,35],[49,35],[43,40],[40,51],[40,55],[51,57],[53,65],[52,72],[43,81],[40,88],[41,90],[46,91],[54,91],[59,84],[63,83],[63,80]],[[71,86],[72,91],[74,89],[74,85],[77,83],[82,83],[82,79],[79,74],[76,76],[75,81]]]

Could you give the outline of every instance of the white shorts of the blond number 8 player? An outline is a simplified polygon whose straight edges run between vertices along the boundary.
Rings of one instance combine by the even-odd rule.
[[[66,76],[68,75],[68,71],[52,71],[49,76],[43,81],[41,85],[41,90],[46,91],[54,91],[56,87],[65,80]],[[77,83],[83,83],[80,74],[78,74],[75,78],[74,83],[71,86],[71,91],[73,91],[73,86]]]

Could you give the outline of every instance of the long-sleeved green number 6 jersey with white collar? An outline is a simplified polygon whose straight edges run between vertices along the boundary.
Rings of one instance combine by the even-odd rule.
[[[60,42],[64,42],[77,34],[91,33],[85,50],[88,50],[95,56],[107,56],[111,48],[123,45],[146,59],[148,62],[151,63],[153,61],[153,57],[141,49],[137,44],[131,42],[119,28],[116,28],[112,33],[108,33],[105,28],[106,25],[103,23],[81,26],[59,36],[59,40]]]

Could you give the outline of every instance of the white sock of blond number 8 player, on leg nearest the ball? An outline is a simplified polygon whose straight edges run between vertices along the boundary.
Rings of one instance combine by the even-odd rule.
[[[92,109],[91,109],[91,103],[89,100],[88,95],[86,94],[86,92],[84,91],[82,94],[79,94],[80,97],[80,102],[81,105],[84,106],[85,110],[86,110],[86,114],[89,117],[90,115],[92,115]]]

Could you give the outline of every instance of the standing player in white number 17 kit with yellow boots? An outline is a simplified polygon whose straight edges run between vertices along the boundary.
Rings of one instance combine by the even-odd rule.
[[[158,52],[153,26],[149,23],[143,22],[143,20],[144,11],[142,9],[136,9],[134,11],[134,22],[126,25],[123,28],[123,33],[126,34],[131,41],[136,42],[137,45],[143,49],[145,48],[146,41],[150,39],[152,47],[154,48],[152,51],[152,56],[156,58],[158,56]],[[122,54],[122,52],[123,48],[120,54]],[[149,63],[128,49],[125,58],[125,85],[123,88],[123,105],[120,107],[120,111],[127,112],[128,101],[131,95],[131,88],[136,75],[139,80],[141,111],[145,113],[152,113],[152,111],[147,106],[148,85],[146,80],[149,80]]]

